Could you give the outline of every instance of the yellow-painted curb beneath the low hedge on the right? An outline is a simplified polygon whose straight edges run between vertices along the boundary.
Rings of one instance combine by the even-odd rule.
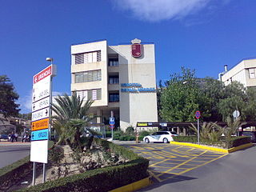
[[[201,146],[201,145],[190,143],[190,142],[170,142],[170,144],[181,145],[181,146],[193,146],[193,147],[203,149],[203,150],[214,150],[214,151],[218,151],[218,152],[226,153],[226,154],[230,154],[237,150],[246,149],[246,148],[254,145],[252,142],[250,142],[250,143],[246,143],[242,146],[236,146],[236,147],[232,147],[230,149],[225,150],[225,149],[221,149],[221,148],[217,148],[217,147],[213,147],[213,146]]]

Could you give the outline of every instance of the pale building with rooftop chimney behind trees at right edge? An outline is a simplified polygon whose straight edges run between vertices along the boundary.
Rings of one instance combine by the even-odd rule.
[[[256,58],[244,59],[236,66],[218,75],[220,81],[224,82],[225,86],[231,82],[241,82],[245,87],[256,87]]]

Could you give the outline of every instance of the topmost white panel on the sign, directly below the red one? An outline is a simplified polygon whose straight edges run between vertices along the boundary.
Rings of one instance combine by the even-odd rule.
[[[50,76],[33,85],[32,102],[50,96]]]

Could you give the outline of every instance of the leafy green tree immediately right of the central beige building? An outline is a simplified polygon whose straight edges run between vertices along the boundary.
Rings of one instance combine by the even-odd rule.
[[[171,74],[160,96],[160,115],[170,122],[192,122],[201,98],[194,70],[182,67],[182,74]]]

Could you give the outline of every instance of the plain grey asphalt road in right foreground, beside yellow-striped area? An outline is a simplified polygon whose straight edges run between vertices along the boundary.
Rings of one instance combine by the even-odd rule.
[[[253,146],[223,155],[195,169],[183,171],[182,174],[170,174],[168,179],[158,181],[154,178],[154,184],[138,191],[253,192],[256,191],[255,167],[256,146]]]

